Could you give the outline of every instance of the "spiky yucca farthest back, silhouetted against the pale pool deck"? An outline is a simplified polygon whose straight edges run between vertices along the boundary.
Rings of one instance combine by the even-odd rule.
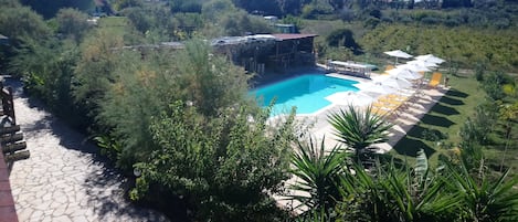
[[[369,146],[387,141],[387,131],[392,127],[384,121],[383,116],[376,115],[371,106],[360,110],[349,105],[345,110],[330,114],[328,121],[335,128],[339,141],[355,150],[358,161]]]

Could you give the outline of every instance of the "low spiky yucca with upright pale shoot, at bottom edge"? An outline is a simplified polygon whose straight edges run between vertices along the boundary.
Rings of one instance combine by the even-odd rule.
[[[424,150],[417,152],[413,170],[390,165],[378,177],[390,221],[448,221],[454,216],[458,198],[446,192],[441,175],[432,173]]]

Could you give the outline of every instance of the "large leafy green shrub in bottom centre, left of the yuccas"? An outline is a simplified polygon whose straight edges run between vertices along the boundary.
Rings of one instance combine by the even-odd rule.
[[[240,106],[212,118],[197,109],[176,102],[154,119],[160,149],[136,165],[144,182],[133,197],[156,192],[147,186],[155,183],[183,197],[198,221],[272,221],[276,208],[268,193],[288,179],[293,116],[273,129],[265,124],[268,112]]]

